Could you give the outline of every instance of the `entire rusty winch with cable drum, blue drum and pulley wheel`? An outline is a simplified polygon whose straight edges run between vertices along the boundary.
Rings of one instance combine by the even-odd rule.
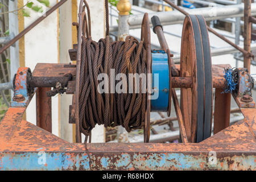
[[[129,163],[133,167],[136,166],[135,161],[142,158],[139,154],[141,151],[147,159],[154,154],[158,158],[159,155],[167,152],[168,154],[164,154],[163,158],[167,157],[170,160],[176,158],[187,163],[189,158],[195,160],[198,158],[199,160],[201,155],[202,158],[208,159],[207,152],[220,152],[222,147],[226,147],[228,151],[226,155],[233,158],[231,156],[232,150],[241,151],[239,148],[242,147],[240,140],[247,142],[242,142],[244,144],[242,150],[254,148],[251,145],[253,138],[255,142],[255,102],[251,94],[253,78],[246,68],[231,69],[228,64],[212,64],[208,28],[204,17],[190,14],[185,16],[181,38],[180,64],[174,63],[174,55],[167,45],[168,40],[164,38],[163,27],[158,16],[152,16],[151,23],[154,33],[158,36],[161,49],[151,50],[149,22],[146,13],[142,21],[140,42],[132,36],[127,36],[125,41],[110,42],[108,3],[106,3],[106,36],[95,42],[90,36],[89,6],[86,1],[82,0],[79,7],[79,22],[73,23],[77,27],[77,44],[74,44],[73,49],[69,50],[71,60],[76,61],[76,63],[39,63],[33,72],[30,68],[19,68],[14,77],[14,97],[11,101],[11,107],[9,113],[7,112],[3,118],[2,125],[0,122],[0,128],[15,125],[13,122],[12,124],[9,123],[10,114],[14,114],[15,119],[22,123],[22,113],[36,93],[38,106],[40,106],[37,109],[41,110],[41,115],[37,117],[37,124],[42,129],[48,130],[51,123],[46,122],[45,118],[51,113],[51,106],[47,104],[51,100],[51,96],[72,94],[73,101],[72,105],[69,106],[69,123],[76,124],[76,142],[78,144],[56,144],[57,142],[46,144],[48,140],[55,140],[55,138],[51,137],[52,135],[49,133],[45,134],[40,129],[39,135],[42,134],[46,138],[41,139],[42,141],[36,146],[46,145],[45,148],[46,150],[49,148],[49,151],[56,149],[60,152],[84,154],[77,161],[86,158],[89,166],[86,166],[87,162],[86,164],[78,164],[76,161],[75,163],[76,166],[83,166],[86,169],[97,167],[96,163],[93,164],[94,166],[92,165],[92,161],[98,160],[96,156],[100,156],[101,159],[114,160],[112,154],[117,148],[128,150],[118,150],[120,154],[117,155],[120,160],[124,158],[131,161]],[[173,46],[176,46],[175,43]],[[111,84],[106,86],[112,77],[110,73],[114,76],[114,93],[111,92]],[[106,79],[104,75],[98,77],[100,74],[105,74],[109,79]],[[131,82],[129,82],[129,74],[133,74]],[[119,88],[126,91],[130,89],[130,85],[133,83],[131,91],[135,91],[136,76],[134,74],[138,76],[139,92],[117,93],[116,88],[119,82],[122,82],[122,86]],[[123,76],[122,79],[120,77],[117,79],[118,75]],[[127,80],[124,79],[125,76],[128,77]],[[108,92],[99,92],[98,88],[101,82],[104,83],[101,89]],[[230,89],[230,82],[233,83],[233,89]],[[124,84],[127,84],[126,87]],[[51,88],[53,89],[51,90]],[[145,88],[146,92],[142,92]],[[177,98],[176,89],[180,89],[180,101]],[[235,126],[229,127],[231,95],[236,100],[245,119]],[[167,112],[167,115],[170,116],[171,109],[173,109],[171,108],[172,102],[179,122],[182,143],[169,143],[168,146],[147,144],[150,141],[150,112]],[[143,128],[144,144],[141,143],[142,147],[140,147],[139,143],[88,143],[86,146],[88,148],[84,148],[84,145],[81,144],[83,142],[81,133],[89,136],[90,131],[97,124],[105,127],[121,125],[127,131]],[[27,123],[20,125],[32,127]],[[212,126],[214,127],[213,136],[211,136]],[[247,129],[247,126],[251,130]],[[11,130],[14,128],[12,127]],[[35,129],[34,126],[33,128]],[[221,132],[219,133],[219,131]],[[30,139],[31,144],[39,137]],[[85,143],[87,139],[86,137]],[[235,140],[238,143],[234,143]],[[217,147],[218,144],[220,147]],[[214,147],[216,148],[214,149]],[[32,146],[27,151],[29,152],[30,149],[35,150]],[[85,149],[88,149],[89,152]],[[200,156],[193,155],[194,151],[198,151]],[[53,154],[52,157],[49,156],[49,158],[53,160],[55,155],[60,155],[60,152]],[[130,152],[133,152],[133,156]],[[105,155],[102,155],[104,153]],[[137,157],[135,153],[138,154]],[[241,158],[242,154],[243,152],[239,153]],[[88,155],[93,155],[95,158],[88,159]],[[251,159],[253,156],[249,155],[248,158]],[[222,158],[222,156],[217,157]],[[141,169],[141,167],[137,166],[134,169]]]

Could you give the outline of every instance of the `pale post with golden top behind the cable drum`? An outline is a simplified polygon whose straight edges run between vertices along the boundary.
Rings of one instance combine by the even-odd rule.
[[[118,40],[124,41],[126,36],[129,35],[129,12],[131,10],[131,3],[129,0],[119,0],[117,3],[118,15]],[[118,142],[129,142],[128,133],[122,127],[118,126],[117,130],[117,140]]]

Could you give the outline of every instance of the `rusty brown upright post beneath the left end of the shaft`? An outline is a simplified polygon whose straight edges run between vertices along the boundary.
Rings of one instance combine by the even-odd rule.
[[[36,92],[36,126],[52,133],[52,98],[46,96],[51,88],[38,88]]]

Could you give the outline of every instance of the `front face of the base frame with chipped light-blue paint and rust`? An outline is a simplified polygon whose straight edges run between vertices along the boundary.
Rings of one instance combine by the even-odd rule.
[[[1,170],[255,170],[255,155],[218,156],[209,163],[208,154],[118,152],[46,152],[40,163],[38,152],[2,152]]]

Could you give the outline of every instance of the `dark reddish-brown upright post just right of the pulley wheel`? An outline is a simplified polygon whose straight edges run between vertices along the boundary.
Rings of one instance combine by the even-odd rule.
[[[221,93],[223,89],[215,89],[213,134],[225,129],[230,123],[230,93]]]

